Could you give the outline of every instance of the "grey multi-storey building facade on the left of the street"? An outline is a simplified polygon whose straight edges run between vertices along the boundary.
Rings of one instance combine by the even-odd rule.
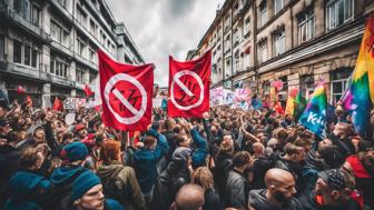
[[[97,50],[144,63],[124,23],[104,0],[0,0],[0,88],[22,86],[33,106],[85,97],[98,83]]]

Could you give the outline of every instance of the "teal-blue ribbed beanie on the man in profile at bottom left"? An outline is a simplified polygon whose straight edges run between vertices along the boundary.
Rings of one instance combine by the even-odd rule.
[[[89,189],[100,184],[100,179],[91,171],[82,172],[73,182],[71,189],[71,200],[81,198]]]

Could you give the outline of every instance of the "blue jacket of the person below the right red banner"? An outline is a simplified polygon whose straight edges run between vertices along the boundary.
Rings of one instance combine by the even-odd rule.
[[[191,154],[193,168],[196,169],[205,166],[205,160],[208,156],[207,141],[198,133],[196,128],[194,128],[190,133],[197,147]]]

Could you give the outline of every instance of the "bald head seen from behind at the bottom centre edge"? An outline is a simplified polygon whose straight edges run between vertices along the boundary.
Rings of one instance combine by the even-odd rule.
[[[171,204],[173,210],[199,210],[204,204],[204,189],[200,186],[189,183],[183,186]]]

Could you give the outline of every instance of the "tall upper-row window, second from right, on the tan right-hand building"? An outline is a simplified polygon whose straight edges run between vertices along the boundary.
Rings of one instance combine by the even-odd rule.
[[[314,10],[308,9],[297,18],[298,43],[311,40],[315,36]]]

